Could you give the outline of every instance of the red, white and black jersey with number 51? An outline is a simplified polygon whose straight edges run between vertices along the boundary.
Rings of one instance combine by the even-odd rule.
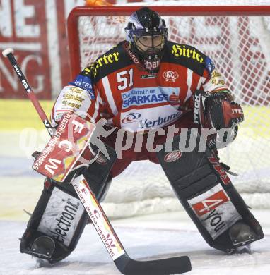
[[[158,73],[143,70],[127,42],[100,56],[60,92],[52,123],[65,111],[132,132],[167,126],[196,90],[227,91],[213,62],[194,47],[167,42]]]

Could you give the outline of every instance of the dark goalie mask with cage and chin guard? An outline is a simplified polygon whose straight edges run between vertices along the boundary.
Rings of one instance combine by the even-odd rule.
[[[149,8],[141,8],[131,15],[125,28],[131,50],[139,57],[146,71],[158,72],[167,40],[165,21]]]

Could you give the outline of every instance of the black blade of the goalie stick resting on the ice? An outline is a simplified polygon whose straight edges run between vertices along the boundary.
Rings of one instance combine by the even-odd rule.
[[[122,274],[143,275],[143,274],[180,274],[192,270],[192,264],[189,257],[173,257],[168,259],[155,259],[152,261],[136,261],[122,255],[115,260],[115,265]]]

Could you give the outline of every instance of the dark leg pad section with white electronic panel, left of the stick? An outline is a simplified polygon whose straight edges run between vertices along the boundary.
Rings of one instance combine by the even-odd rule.
[[[80,200],[46,179],[40,200],[21,238],[20,252],[47,259],[54,264],[74,250],[87,220],[88,215]],[[54,249],[49,254],[44,253],[47,251],[47,242],[37,245],[37,240],[45,237],[54,242],[54,245],[50,245]]]

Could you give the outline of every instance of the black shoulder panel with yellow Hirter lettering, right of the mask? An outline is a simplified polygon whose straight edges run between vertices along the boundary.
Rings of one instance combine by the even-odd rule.
[[[165,62],[185,66],[199,75],[203,75],[206,63],[207,65],[211,63],[208,56],[190,45],[168,41],[166,47],[167,51],[163,59]]]

